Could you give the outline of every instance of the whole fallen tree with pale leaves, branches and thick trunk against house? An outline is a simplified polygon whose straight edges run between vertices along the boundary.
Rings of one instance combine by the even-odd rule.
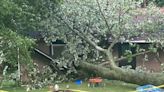
[[[164,17],[153,4],[141,9],[140,2],[135,0],[64,0],[59,11],[51,10],[49,18],[41,24],[51,32],[47,40],[61,39],[67,43],[63,57],[58,59],[65,67],[73,64],[102,77],[136,84],[164,83],[162,73],[138,72],[116,64],[163,46],[163,36],[154,34],[164,27]],[[151,49],[138,49],[136,54],[129,51],[121,58],[113,55],[117,43],[133,44],[131,38],[141,34],[153,42]],[[104,41],[110,44],[103,46],[101,42]],[[102,66],[104,62],[107,62],[107,67]]]

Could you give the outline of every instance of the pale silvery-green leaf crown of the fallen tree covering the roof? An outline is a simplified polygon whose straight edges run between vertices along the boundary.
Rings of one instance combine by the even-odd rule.
[[[41,21],[50,32],[45,40],[60,39],[67,43],[59,60],[64,60],[60,63],[67,67],[76,67],[82,61],[105,61],[105,55],[94,48],[95,44],[107,49],[108,42],[114,39],[131,44],[129,41],[137,36],[157,42],[163,36],[158,38],[154,33],[163,28],[164,18],[154,5],[141,10],[140,4],[140,0],[64,0],[60,12],[50,10],[51,16]],[[127,54],[129,59],[131,56]]]

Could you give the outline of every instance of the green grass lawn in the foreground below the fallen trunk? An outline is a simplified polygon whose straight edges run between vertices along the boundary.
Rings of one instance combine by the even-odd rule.
[[[62,83],[59,84],[59,87],[62,89],[66,89],[66,85],[70,86],[70,89],[76,89],[76,90],[84,90],[88,92],[129,92],[134,91],[137,85],[124,83],[120,81],[108,81],[106,82],[106,86],[104,87],[88,87],[87,83],[83,83],[82,85],[76,85],[74,83]],[[3,90],[9,91],[9,92],[26,92],[24,88],[3,88]],[[47,92],[48,87],[45,87],[44,89],[38,89],[33,90],[30,92]]]

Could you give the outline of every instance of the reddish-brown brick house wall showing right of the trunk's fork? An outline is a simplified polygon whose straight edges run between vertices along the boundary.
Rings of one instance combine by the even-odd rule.
[[[117,46],[115,46],[113,48],[113,56],[115,57],[119,57],[120,54],[120,47],[118,46],[120,44],[117,44]],[[124,44],[121,44],[124,45]],[[140,44],[141,47],[143,48],[147,48],[148,44]],[[145,61],[145,55],[139,55],[137,56],[134,60],[136,60],[136,67],[140,67],[143,70],[146,71],[150,71],[150,72],[161,72],[162,71],[162,67],[161,64],[164,64],[164,51],[159,49],[158,50],[159,56],[157,56],[157,54],[155,53],[148,53],[148,61]],[[122,61],[120,61],[122,62]],[[134,62],[135,63],[135,62]],[[117,65],[119,65],[117,63]],[[146,68],[146,69],[145,69]],[[164,68],[163,68],[164,69]]]

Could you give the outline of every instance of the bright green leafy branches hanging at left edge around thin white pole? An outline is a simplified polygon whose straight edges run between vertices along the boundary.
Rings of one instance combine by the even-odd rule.
[[[5,58],[3,63],[8,63],[11,66],[17,66],[19,53],[21,53],[19,54],[19,60],[22,64],[31,62],[29,49],[34,43],[33,40],[28,39],[27,37],[21,37],[7,28],[1,29],[0,37],[0,48]],[[18,48],[20,49],[19,53]]]

